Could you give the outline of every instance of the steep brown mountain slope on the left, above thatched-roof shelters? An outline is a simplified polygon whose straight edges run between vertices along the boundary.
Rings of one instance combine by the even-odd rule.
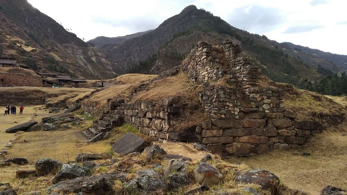
[[[0,0],[0,56],[41,72],[112,78],[111,62],[26,0]]]

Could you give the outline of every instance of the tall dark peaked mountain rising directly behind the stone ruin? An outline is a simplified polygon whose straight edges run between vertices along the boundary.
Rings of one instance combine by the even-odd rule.
[[[302,59],[286,44],[235,28],[193,5],[165,20],[151,32],[114,46],[104,45],[100,49],[113,62],[113,70],[118,74],[158,74],[179,65],[198,41],[218,45],[227,39],[240,44],[243,52],[261,67],[263,74],[277,82],[295,84],[301,78],[318,80],[323,77],[318,65],[327,71],[346,69],[310,53],[302,53],[302,57],[305,56]],[[322,63],[313,63],[316,61],[312,59]]]

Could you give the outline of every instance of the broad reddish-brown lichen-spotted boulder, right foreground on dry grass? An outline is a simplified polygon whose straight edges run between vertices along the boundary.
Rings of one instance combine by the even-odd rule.
[[[236,177],[236,182],[246,184],[257,184],[263,189],[272,189],[277,192],[280,179],[269,171],[253,169]],[[273,193],[276,194],[276,193]]]

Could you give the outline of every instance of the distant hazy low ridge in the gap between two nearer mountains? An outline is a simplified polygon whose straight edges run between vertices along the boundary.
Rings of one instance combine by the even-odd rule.
[[[98,37],[95,37],[94,39],[91,39],[87,42],[94,44],[94,46],[96,46],[97,48],[100,48],[101,46],[103,46],[105,44],[110,44],[110,46],[115,46],[119,43],[123,43],[126,40],[133,39],[135,37],[149,33],[151,31],[153,31],[153,30],[138,32],[138,33],[125,35],[125,36],[117,36],[117,37],[98,36]]]

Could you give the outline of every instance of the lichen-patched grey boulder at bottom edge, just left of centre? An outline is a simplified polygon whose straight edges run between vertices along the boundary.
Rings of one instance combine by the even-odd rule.
[[[149,176],[133,179],[125,184],[125,191],[128,194],[166,194],[167,187],[160,179],[152,179]]]

